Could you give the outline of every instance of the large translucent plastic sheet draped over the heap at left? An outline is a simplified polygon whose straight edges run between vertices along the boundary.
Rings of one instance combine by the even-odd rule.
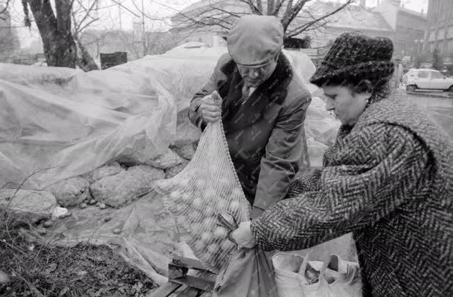
[[[35,173],[24,187],[43,189],[121,155],[165,152],[176,105],[155,73],[0,64],[0,185]]]

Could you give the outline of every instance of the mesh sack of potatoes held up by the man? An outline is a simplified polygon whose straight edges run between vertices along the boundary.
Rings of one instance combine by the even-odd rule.
[[[245,198],[229,155],[222,121],[208,124],[189,164],[176,176],[154,183],[163,204],[175,218],[186,241],[206,268],[219,273],[236,246],[227,229],[217,226],[217,214],[227,212],[238,223],[249,221]]]

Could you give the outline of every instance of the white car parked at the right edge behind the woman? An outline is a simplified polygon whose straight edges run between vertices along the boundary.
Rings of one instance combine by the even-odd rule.
[[[453,78],[447,78],[435,69],[410,69],[404,74],[403,83],[410,92],[417,89],[453,92]]]

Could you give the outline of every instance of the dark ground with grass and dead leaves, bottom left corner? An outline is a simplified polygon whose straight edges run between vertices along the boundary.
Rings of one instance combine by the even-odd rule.
[[[145,296],[154,288],[108,246],[33,243],[20,232],[26,224],[0,219],[0,271],[10,279],[0,296]]]

